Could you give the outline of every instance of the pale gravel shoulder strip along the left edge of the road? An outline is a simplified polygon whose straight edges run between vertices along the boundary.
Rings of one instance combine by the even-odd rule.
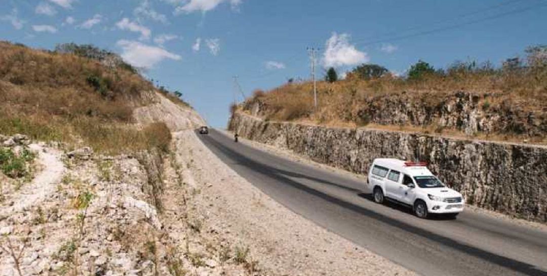
[[[415,275],[293,213],[237,175],[197,139],[179,132],[177,158],[190,164],[207,232],[249,249],[272,275]]]

